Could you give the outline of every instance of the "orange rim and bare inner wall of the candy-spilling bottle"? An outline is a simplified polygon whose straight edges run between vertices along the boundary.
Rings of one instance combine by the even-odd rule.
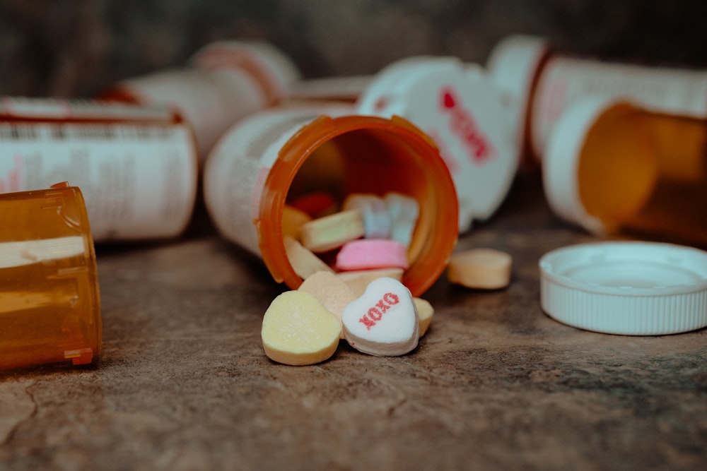
[[[404,193],[419,204],[402,282],[419,295],[443,272],[457,241],[457,196],[432,141],[394,117],[320,117],[284,145],[271,167],[256,224],[262,258],[274,279],[296,289],[302,279],[286,256],[282,212],[288,198],[325,191]]]

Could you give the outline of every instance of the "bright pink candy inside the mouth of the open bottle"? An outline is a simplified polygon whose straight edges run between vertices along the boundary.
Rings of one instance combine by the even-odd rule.
[[[337,254],[337,270],[407,268],[407,249],[394,239],[357,239],[346,242]]]

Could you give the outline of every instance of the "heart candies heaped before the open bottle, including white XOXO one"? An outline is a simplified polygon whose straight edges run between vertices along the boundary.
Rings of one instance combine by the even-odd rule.
[[[337,275],[320,271],[273,300],[261,338],[270,359],[290,365],[329,359],[340,339],[359,352],[392,357],[417,347],[433,313],[431,304],[393,278],[373,280],[357,297]]]

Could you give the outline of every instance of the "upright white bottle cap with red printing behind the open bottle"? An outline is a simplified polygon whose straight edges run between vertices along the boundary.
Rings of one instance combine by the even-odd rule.
[[[501,95],[480,66],[455,57],[403,59],[375,76],[357,107],[404,117],[435,141],[457,187],[460,231],[501,205],[518,155]]]

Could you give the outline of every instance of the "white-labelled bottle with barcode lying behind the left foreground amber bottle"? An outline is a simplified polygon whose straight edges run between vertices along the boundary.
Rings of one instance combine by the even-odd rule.
[[[4,97],[0,193],[68,180],[96,242],[175,237],[197,194],[192,131],[163,107]]]

